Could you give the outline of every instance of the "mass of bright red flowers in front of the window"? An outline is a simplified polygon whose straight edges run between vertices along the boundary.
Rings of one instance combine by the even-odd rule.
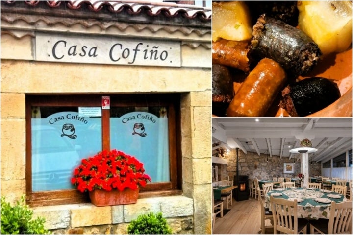
[[[151,177],[144,173],[143,164],[135,157],[113,149],[102,151],[93,157],[82,159],[81,165],[74,170],[71,183],[80,192],[113,188],[123,191],[145,187]]]

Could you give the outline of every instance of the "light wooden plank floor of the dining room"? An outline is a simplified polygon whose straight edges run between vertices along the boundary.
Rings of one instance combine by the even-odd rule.
[[[266,221],[266,225],[270,224]],[[261,233],[260,202],[249,197],[249,200],[235,201],[230,211],[217,217],[213,228],[213,234],[258,234]],[[273,234],[273,229],[267,229],[266,234]]]

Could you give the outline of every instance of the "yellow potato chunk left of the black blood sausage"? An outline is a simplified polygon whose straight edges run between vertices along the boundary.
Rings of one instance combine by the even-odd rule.
[[[252,25],[243,1],[212,2],[212,41],[219,38],[243,41],[252,38]]]

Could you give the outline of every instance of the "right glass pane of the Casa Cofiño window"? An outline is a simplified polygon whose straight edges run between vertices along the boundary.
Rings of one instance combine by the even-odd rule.
[[[113,107],[110,147],[136,157],[153,182],[169,182],[169,135],[166,107]]]

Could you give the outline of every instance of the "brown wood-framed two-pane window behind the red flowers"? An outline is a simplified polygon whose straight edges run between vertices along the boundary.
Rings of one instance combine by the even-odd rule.
[[[178,94],[110,95],[109,109],[102,109],[101,95],[26,96],[28,203],[87,201],[71,184],[72,172],[103,149],[144,163],[152,181],[142,197],[180,194],[179,100]]]

